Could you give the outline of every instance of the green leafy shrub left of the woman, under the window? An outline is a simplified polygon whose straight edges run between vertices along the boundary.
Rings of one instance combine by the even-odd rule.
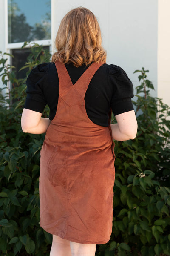
[[[26,43],[25,43],[26,46]],[[27,74],[50,60],[49,52],[34,44]],[[10,81],[10,95],[0,98],[0,255],[49,255],[51,235],[39,226],[39,159],[44,135],[23,133],[20,119],[26,99],[26,78],[17,80],[1,53],[2,81]],[[48,115],[46,109],[44,115]]]

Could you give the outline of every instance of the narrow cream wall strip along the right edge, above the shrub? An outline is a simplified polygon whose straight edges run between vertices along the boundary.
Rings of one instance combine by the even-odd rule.
[[[159,0],[158,97],[170,106],[170,0]]]

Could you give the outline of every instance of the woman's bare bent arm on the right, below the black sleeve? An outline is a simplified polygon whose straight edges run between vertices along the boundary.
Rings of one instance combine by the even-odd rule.
[[[127,141],[136,137],[138,124],[134,110],[115,116],[117,124],[111,124],[112,137],[116,141]]]

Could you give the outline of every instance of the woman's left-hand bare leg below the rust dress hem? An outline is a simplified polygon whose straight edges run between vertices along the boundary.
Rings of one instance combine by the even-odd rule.
[[[50,256],[71,256],[70,241],[53,235]]]

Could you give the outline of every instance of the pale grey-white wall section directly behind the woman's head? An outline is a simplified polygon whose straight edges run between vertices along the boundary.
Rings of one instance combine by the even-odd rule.
[[[54,42],[62,17],[72,8],[83,6],[97,17],[107,50],[108,64],[121,66],[139,85],[136,69],[149,69],[157,96],[157,0],[52,0]],[[136,93],[136,91],[135,91]]]

